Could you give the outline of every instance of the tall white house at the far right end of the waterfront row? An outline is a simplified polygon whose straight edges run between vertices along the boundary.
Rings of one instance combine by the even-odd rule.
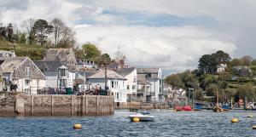
[[[163,78],[160,68],[137,68],[137,74],[143,74],[150,83],[151,100],[156,102],[164,101]]]

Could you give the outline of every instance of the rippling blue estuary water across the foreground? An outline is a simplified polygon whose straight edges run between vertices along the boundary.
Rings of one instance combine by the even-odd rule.
[[[131,123],[130,111],[102,117],[0,117],[0,136],[256,136],[256,111],[152,110],[154,122]],[[247,117],[253,114],[254,117]],[[238,123],[231,123],[236,117]],[[82,129],[73,129],[74,123]]]

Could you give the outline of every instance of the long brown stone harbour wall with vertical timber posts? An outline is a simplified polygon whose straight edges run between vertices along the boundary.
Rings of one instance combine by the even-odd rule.
[[[113,96],[32,94],[0,100],[0,116],[97,116],[113,114]]]

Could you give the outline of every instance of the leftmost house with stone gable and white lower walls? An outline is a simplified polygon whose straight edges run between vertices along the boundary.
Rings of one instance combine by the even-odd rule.
[[[44,73],[28,57],[0,58],[0,64],[4,90],[37,94],[32,88],[45,87]]]

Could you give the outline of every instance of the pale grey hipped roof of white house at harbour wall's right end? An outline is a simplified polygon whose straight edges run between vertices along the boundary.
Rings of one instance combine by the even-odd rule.
[[[110,79],[124,79],[125,80],[125,77],[119,75],[117,72],[115,71],[111,71],[111,70],[107,70],[107,77],[110,78]],[[104,70],[99,70],[96,72],[96,74],[88,77],[89,79],[91,78],[105,78],[105,71]]]

